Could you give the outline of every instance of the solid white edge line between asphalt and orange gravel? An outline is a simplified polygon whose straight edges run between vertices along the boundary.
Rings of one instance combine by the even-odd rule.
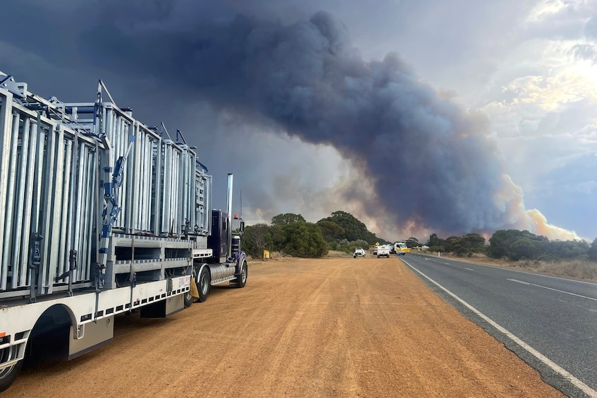
[[[448,289],[446,289],[445,287],[443,287],[441,284],[439,284],[435,280],[429,278],[429,276],[425,275],[425,273],[422,273],[421,271],[419,271],[418,269],[416,269],[414,266],[412,266],[411,264],[409,264],[409,262],[407,262],[406,260],[402,259],[402,261],[404,261],[408,266],[410,266],[411,269],[413,269],[414,271],[420,273],[422,276],[424,276],[425,278],[427,278],[431,283],[435,284],[437,287],[439,287],[440,289],[442,289],[443,291],[445,291],[446,293],[448,293],[450,296],[452,296],[454,299],[458,300],[458,302],[460,302],[462,305],[464,305],[465,307],[467,307],[468,309],[470,309],[471,311],[473,311],[476,315],[480,316],[483,320],[485,320],[485,322],[489,323],[490,325],[492,325],[493,327],[495,327],[496,329],[498,329],[499,332],[503,333],[505,336],[507,336],[508,338],[510,338],[510,340],[512,340],[515,343],[517,343],[518,345],[520,345],[522,348],[524,348],[524,350],[526,350],[527,352],[529,352],[530,354],[532,354],[533,356],[535,356],[535,358],[539,359],[545,365],[549,366],[549,368],[551,368],[555,372],[558,372],[559,374],[561,374],[565,379],[567,379],[568,381],[570,381],[574,386],[576,386],[579,390],[581,390],[582,392],[584,392],[586,395],[588,395],[591,398],[597,398],[597,391],[596,390],[594,390],[591,387],[587,386],[585,383],[583,383],[582,381],[580,381],[579,379],[577,379],[576,377],[574,377],[570,372],[568,372],[567,370],[565,370],[564,368],[562,368],[557,363],[554,363],[553,361],[551,361],[551,359],[547,358],[546,356],[544,356],[543,354],[541,354],[540,352],[538,352],[537,350],[535,350],[535,348],[531,347],[530,345],[528,345],[527,343],[525,343],[524,341],[522,341],[520,338],[518,338],[514,334],[510,333],[508,331],[508,329],[506,329],[505,327],[502,327],[498,323],[494,322],[494,320],[492,320],[491,318],[489,318],[488,316],[486,316],[485,314],[483,314],[481,311],[479,311],[478,309],[476,309],[475,307],[473,307],[472,305],[470,305],[468,302],[466,302],[462,298],[456,296],[456,294],[452,293],[452,291],[449,291]]]

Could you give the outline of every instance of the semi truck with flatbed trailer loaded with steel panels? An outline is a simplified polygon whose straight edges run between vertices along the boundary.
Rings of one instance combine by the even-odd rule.
[[[94,94],[46,99],[0,72],[0,391],[25,360],[109,343],[119,314],[165,318],[247,283],[232,174],[214,209],[181,132],[134,119],[101,80]]]

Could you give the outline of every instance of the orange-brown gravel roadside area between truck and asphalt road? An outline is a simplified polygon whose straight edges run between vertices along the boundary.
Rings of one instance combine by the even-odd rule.
[[[397,257],[249,264],[166,319],[21,372],[2,397],[563,397]]]

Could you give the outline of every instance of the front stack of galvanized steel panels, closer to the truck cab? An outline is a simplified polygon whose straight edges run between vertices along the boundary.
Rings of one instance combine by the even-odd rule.
[[[162,138],[111,102],[102,104],[101,114],[100,134],[107,136],[112,147],[104,166],[114,165],[133,143],[125,183],[118,193],[123,211],[113,228],[168,237],[181,236],[187,230],[207,235],[211,226],[206,216],[211,208],[211,177],[197,168],[195,151],[186,144]]]

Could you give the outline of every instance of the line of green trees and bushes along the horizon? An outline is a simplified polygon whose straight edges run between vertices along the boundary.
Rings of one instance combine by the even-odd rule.
[[[467,257],[483,253],[489,257],[508,260],[560,260],[597,261],[597,238],[589,243],[585,240],[550,240],[528,230],[497,230],[485,242],[478,233],[450,236],[445,239],[436,233],[429,235],[427,242],[409,237],[404,242],[410,248],[428,246],[428,251],[454,253]],[[244,228],[242,249],[251,257],[260,258],[264,250],[278,251],[295,257],[316,258],[328,251],[351,253],[356,247],[367,248],[373,244],[392,244],[367,229],[364,223],[341,210],[310,223],[300,214],[283,213],[271,219],[271,225],[256,224]]]

